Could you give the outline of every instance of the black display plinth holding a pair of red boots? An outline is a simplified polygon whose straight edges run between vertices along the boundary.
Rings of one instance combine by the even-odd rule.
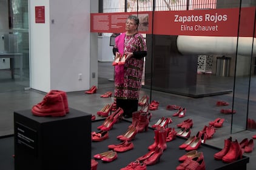
[[[70,108],[64,117],[15,111],[15,170],[90,169],[91,114]]]

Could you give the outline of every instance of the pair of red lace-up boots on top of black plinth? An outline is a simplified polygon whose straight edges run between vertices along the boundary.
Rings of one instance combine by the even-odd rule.
[[[44,96],[42,102],[32,107],[35,116],[66,116],[69,113],[67,94],[60,90],[51,90]]]

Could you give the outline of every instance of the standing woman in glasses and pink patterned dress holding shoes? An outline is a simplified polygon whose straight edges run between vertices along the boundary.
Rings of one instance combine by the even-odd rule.
[[[124,117],[132,117],[138,110],[144,57],[147,55],[146,42],[138,33],[139,19],[130,15],[126,21],[126,32],[115,38],[113,54],[126,55],[124,65],[115,65],[116,107],[124,110]]]

